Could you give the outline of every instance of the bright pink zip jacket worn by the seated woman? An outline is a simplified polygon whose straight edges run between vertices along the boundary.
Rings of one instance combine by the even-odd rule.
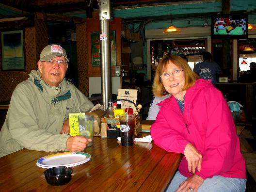
[[[187,90],[183,114],[174,96],[158,104],[160,112],[151,126],[154,143],[168,152],[184,153],[188,143],[202,154],[203,179],[212,176],[246,178],[245,161],[240,152],[240,141],[232,114],[222,93],[206,80],[197,80]],[[188,171],[185,156],[179,172],[186,177]]]

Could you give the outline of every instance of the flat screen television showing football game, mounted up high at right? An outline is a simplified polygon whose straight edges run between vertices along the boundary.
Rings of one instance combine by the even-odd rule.
[[[248,15],[211,16],[211,37],[214,39],[248,39]]]

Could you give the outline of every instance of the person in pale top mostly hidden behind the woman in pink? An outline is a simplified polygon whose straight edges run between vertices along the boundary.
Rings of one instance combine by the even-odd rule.
[[[180,57],[185,59],[188,63],[189,59],[185,55],[181,55]],[[160,107],[157,104],[170,96],[171,95],[167,92],[163,93],[163,96],[154,96],[151,100],[146,120],[156,120],[157,114],[160,110]]]

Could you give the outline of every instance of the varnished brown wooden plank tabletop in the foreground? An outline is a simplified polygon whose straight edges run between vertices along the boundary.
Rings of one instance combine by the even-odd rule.
[[[63,186],[49,185],[46,169],[36,165],[40,157],[56,152],[22,149],[4,156],[0,158],[0,191],[164,191],[182,158],[153,142],[124,147],[115,139],[99,137],[84,152],[91,154],[91,160],[73,167],[71,181]]]

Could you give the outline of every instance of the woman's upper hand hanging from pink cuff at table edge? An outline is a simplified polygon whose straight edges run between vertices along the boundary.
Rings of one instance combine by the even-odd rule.
[[[201,171],[201,164],[202,164],[202,155],[197,151],[197,149],[192,144],[187,144],[184,149],[184,155],[186,160],[188,161],[188,169],[189,172],[195,173],[195,168]]]

